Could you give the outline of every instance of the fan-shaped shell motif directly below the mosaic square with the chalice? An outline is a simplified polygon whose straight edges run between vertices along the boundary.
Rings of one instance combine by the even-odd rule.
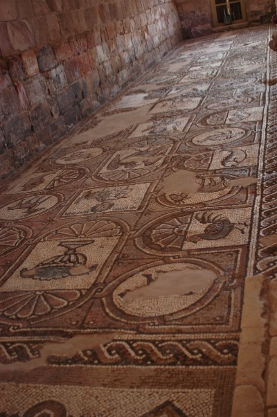
[[[66,308],[81,295],[77,290],[1,293],[0,312],[10,319],[33,319]]]

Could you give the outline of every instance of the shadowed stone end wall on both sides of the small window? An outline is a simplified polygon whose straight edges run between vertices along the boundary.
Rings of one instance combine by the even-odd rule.
[[[208,35],[213,31],[211,0],[175,0],[185,38]],[[260,16],[275,12],[275,0],[244,0],[247,21],[260,21]]]

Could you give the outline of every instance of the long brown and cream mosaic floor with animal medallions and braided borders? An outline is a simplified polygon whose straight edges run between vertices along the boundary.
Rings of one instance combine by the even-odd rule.
[[[184,42],[2,190],[1,416],[231,415],[276,276],[268,32]]]

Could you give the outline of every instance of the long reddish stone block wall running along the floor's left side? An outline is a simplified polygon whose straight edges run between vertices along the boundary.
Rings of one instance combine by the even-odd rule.
[[[172,0],[0,0],[0,179],[180,40]]]

